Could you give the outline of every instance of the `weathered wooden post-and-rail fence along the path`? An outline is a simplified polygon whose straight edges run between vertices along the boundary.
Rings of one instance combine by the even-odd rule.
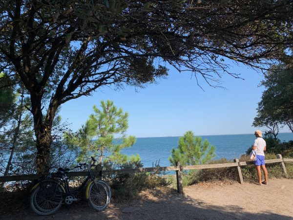
[[[202,165],[189,165],[181,166],[180,162],[176,163],[176,166],[169,167],[146,167],[146,168],[135,168],[135,169],[120,169],[120,170],[103,170],[103,175],[119,175],[119,174],[135,174],[135,173],[147,173],[147,172],[160,172],[160,171],[176,171],[177,181],[177,192],[183,193],[182,185],[182,171],[184,170],[201,170],[210,168],[224,168],[224,167],[235,167],[237,171],[238,182],[243,184],[243,177],[241,173],[241,166],[253,165],[253,161],[239,162],[239,159],[234,159],[232,163],[221,163],[221,164],[202,164]],[[281,154],[277,154],[277,159],[266,160],[266,164],[269,163],[280,163],[282,165],[285,176],[288,178],[287,170],[284,162],[293,162],[293,158],[282,158]],[[87,176],[88,172],[69,172],[66,176]],[[94,175],[100,175],[101,170],[97,169],[93,171]],[[21,181],[21,180],[34,180],[38,179],[42,175],[19,175],[19,176],[0,176],[0,182],[10,181]]]

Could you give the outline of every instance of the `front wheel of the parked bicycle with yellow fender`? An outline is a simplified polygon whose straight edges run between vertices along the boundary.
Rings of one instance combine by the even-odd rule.
[[[99,180],[91,182],[88,190],[88,203],[96,211],[104,211],[110,202],[107,187]]]

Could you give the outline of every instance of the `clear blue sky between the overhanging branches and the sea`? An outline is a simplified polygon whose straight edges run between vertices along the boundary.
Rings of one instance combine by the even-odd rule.
[[[226,89],[209,87],[200,80],[203,91],[191,73],[168,68],[168,78],[158,84],[119,91],[101,88],[92,96],[64,103],[60,114],[75,131],[93,112],[93,105],[109,99],[129,113],[127,134],[136,137],[181,136],[188,130],[195,135],[242,134],[257,129],[251,124],[264,89],[258,87],[261,73],[233,65],[231,70],[241,73],[244,80],[223,75],[221,86]]]

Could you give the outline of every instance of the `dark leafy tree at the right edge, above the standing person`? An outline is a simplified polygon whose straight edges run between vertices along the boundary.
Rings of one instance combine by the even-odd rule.
[[[288,126],[293,132],[293,69],[290,65],[274,66],[261,85],[265,90],[253,125],[269,128],[274,138],[279,126]]]

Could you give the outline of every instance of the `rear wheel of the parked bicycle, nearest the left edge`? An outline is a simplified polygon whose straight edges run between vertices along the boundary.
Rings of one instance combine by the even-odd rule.
[[[40,189],[40,185],[45,189]],[[64,188],[54,180],[44,180],[40,185],[31,193],[30,207],[40,216],[52,215],[62,206]]]

